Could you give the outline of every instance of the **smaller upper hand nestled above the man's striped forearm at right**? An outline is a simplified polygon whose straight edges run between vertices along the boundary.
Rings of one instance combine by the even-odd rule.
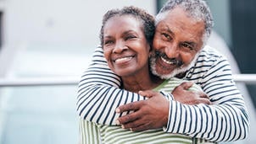
[[[184,82],[181,85],[177,86],[173,91],[172,95],[174,96],[175,101],[180,102],[181,104],[211,104],[209,96],[206,93],[188,91],[188,88],[191,88],[193,85],[192,82]]]

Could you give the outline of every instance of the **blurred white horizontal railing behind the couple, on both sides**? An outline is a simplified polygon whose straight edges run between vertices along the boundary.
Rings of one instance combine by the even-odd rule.
[[[80,77],[0,79],[0,87],[77,85]],[[256,74],[234,74],[237,83],[256,84]]]

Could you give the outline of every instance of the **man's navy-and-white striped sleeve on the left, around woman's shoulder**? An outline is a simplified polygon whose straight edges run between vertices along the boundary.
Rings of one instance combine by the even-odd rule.
[[[112,72],[99,47],[93,54],[92,64],[83,73],[78,85],[76,110],[84,120],[103,125],[115,125],[123,114],[115,108],[122,104],[143,100],[145,97],[120,89],[120,77]]]

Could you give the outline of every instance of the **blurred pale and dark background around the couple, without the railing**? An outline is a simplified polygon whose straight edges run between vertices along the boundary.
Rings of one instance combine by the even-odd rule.
[[[155,15],[165,0],[0,0],[0,144],[78,143],[77,83],[99,44],[103,13],[134,5]],[[209,45],[235,74],[256,73],[256,1],[207,0]],[[256,137],[256,84],[237,83]],[[223,142],[224,143],[224,142]]]

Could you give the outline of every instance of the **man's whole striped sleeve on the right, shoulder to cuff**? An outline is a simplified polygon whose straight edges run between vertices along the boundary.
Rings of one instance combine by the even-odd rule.
[[[233,81],[231,66],[223,56],[209,57],[215,57],[214,61],[202,58],[187,79],[201,85],[213,104],[185,105],[170,101],[169,122],[164,131],[209,141],[242,140],[248,136],[248,111]]]

